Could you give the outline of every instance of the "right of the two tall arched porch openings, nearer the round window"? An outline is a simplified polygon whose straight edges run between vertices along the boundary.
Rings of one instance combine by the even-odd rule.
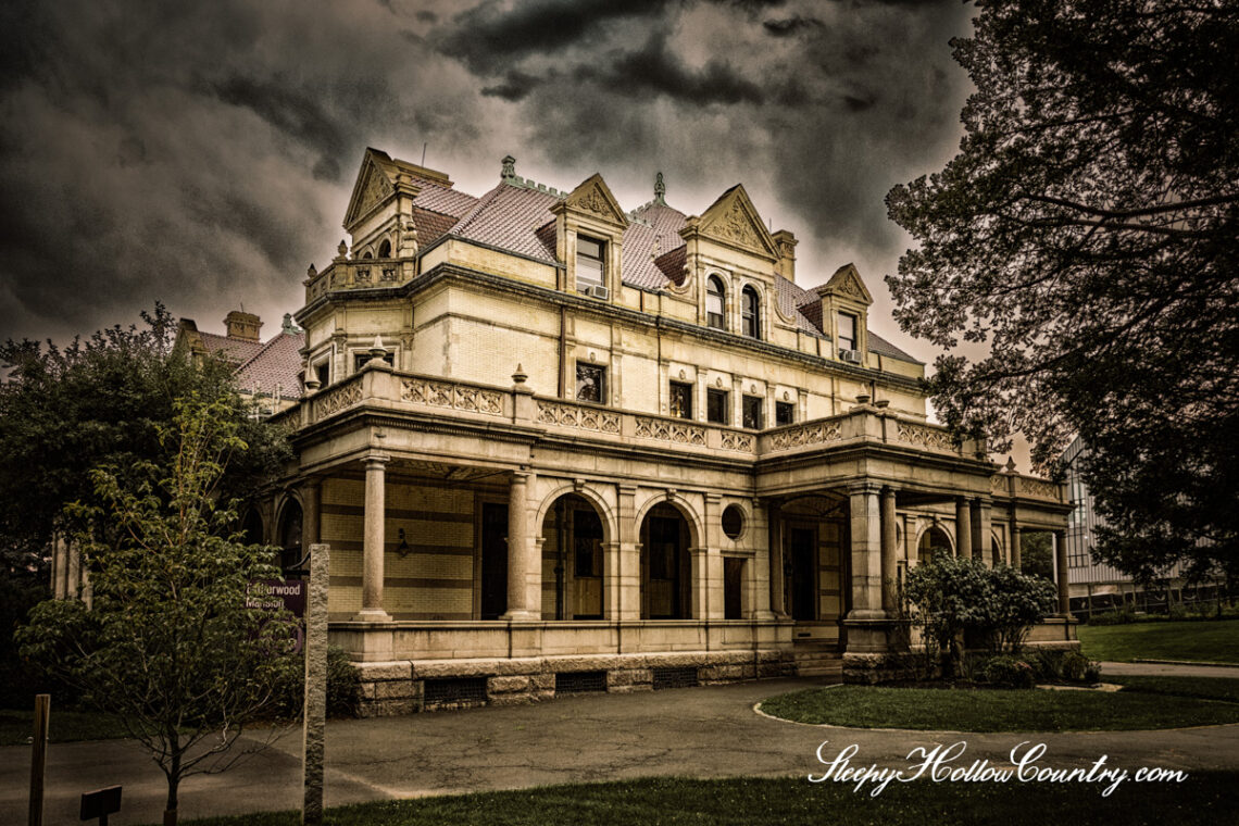
[[[690,619],[689,523],[675,505],[654,505],[641,524],[641,618]]]

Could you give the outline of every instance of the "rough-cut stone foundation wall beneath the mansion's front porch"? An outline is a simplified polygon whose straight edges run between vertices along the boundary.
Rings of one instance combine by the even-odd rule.
[[[555,697],[555,675],[603,671],[607,693],[652,691],[658,669],[681,669],[695,685],[786,677],[795,674],[789,651],[684,651],[674,654],[610,654],[475,660],[400,660],[358,663],[363,717],[410,715],[482,705],[507,706]],[[484,696],[427,701],[427,680],[473,680]]]

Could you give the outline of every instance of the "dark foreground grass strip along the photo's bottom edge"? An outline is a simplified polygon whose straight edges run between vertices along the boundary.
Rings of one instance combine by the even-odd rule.
[[[330,826],[1042,826],[1075,824],[1206,826],[1239,810],[1239,774],[1191,773],[1183,783],[1127,781],[1109,798],[1082,783],[892,783],[878,798],[851,785],[804,778],[631,780],[393,800],[327,810]],[[297,826],[296,812],[185,820],[185,826]]]

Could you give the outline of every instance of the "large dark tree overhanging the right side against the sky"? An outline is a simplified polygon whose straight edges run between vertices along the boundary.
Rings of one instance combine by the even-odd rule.
[[[960,152],[895,187],[904,331],[954,430],[1051,469],[1074,433],[1137,580],[1239,550],[1239,4],[999,0],[954,41]]]

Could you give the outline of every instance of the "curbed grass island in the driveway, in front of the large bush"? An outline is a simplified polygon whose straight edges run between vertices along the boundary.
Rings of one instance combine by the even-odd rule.
[[[1239,723],[1239,705],[1121,691],[835,686],[772,697],[762,711],[800,723],[957,732],[1139,731]]]

